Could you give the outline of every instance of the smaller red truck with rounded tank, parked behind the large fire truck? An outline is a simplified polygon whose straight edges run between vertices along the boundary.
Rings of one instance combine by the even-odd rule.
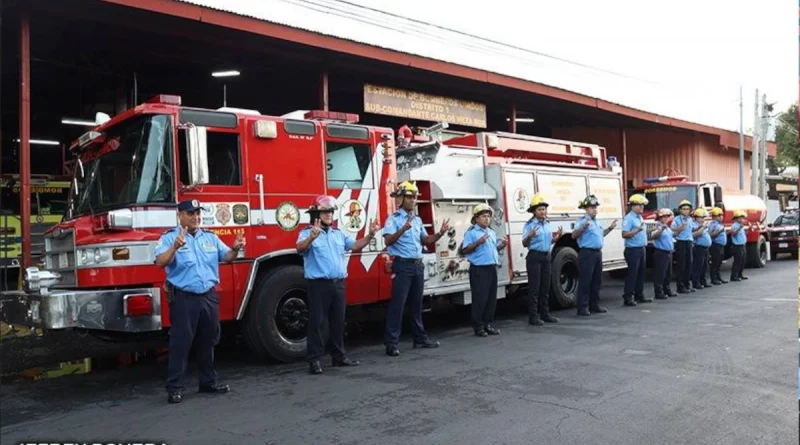
[[[664,173],[679,173],[670,171]],[[692,203],[692,208],[702,207],[710,212],[714,207],[720,207],[723,214],[723,223],[726,228],[733,224],[733,212],[744,210],[747,212],[747,250],[746,266],[761,268],[766,266],[769,257],[769,242],[767,241],[767,205],[758,196],[745,194],[738,190],[726,190],[723,194],[722,187],[716,182],[692,182],[685,175],[664,175],[647,178],[631,193],[644,194],[649,203],[645,206],[644,218],[647,224],[655,224],[656,211],[660,208],[672,209],[677,214],[678,204],[685,200]],[[708,217],[710,220],[711,218]],[[648,257],[652,250],[652,240],[648,246]],[[733,255],[730,239],[725,249],[725,259]],[[649,261],[648,261],[649,262]]]

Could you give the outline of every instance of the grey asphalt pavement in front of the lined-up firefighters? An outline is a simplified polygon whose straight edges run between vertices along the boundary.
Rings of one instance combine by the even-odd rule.
[[[164,363],[5,384],[0,443],[797,444],[797,271],[781,259],[635,308],[605,276],[608,314],[537,328],[507,305],[497,337],[474,337],[463,310],[426,315],[440,348],[412,350],[406,332],[390,358],[365,329],[347,340],[361,366],[320,376],[223,357],[232,392],[179,405]]]

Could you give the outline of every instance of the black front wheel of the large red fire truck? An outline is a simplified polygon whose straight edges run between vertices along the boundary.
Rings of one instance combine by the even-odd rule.
[[[244,339],[263,360],[290,363],[306,356],[307,283],[302,266],[281,266],[256,283],[244,320]]]

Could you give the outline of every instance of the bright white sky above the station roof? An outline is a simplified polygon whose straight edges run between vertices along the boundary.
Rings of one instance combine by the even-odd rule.
[[[188,1],[734,131],[740,86],[746,132],[756,88],[775,112],[798,98],[798,9],[785,0]]]

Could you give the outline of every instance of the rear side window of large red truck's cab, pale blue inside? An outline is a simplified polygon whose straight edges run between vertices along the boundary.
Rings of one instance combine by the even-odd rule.
[[[370,149],[366,144],[327,142],[328,188],[373,188],[372,178],[366,178]]]

